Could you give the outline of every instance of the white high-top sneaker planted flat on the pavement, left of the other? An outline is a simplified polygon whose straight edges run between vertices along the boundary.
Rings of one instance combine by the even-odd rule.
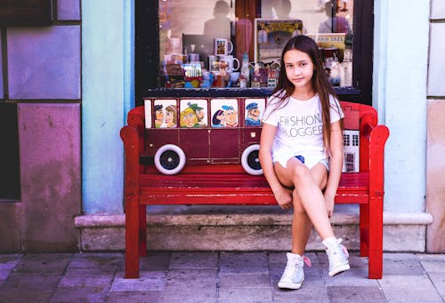
[[[311,260],[291,252],[287,252],[286,256],[287,265],[283,275],[281,275],[281,279],[279,279],[278,286],[279,288],[297,290],[302,287],[304,280],[304,263],[306,263],[308,267],[311,267]]]

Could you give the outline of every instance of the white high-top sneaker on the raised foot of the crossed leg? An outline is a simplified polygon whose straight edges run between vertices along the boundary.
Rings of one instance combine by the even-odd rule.
[[[329,276],[342,273],[350,269],[349,253],[342,244],[342,239],[328,238],[323,241],[327,247],[326,253],[329,259]]]

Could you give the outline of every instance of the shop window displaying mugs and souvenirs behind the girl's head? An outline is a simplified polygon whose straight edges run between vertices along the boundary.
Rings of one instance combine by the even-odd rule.
[[[342,100],[370,103],[372,6],[370,0],[136,0],[136,97],[159,88],[173,95],[253,88],[267,94],[284,44],[307,35],[319,44]]]

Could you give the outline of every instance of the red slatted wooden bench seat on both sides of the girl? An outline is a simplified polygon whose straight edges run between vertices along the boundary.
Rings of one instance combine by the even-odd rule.
[[[336,203],[368,203],[369,173],[343,173]],[[189,172],[140,175],[141,204],[276,205],[263,176],[245,172]]]

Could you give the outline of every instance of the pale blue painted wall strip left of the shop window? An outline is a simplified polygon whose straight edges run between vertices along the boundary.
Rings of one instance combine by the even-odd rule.
[[[134,107],[133,3],[82,2],[82,198],[86,214],[124,211],[124,149],[119,131],[126,112]]]

